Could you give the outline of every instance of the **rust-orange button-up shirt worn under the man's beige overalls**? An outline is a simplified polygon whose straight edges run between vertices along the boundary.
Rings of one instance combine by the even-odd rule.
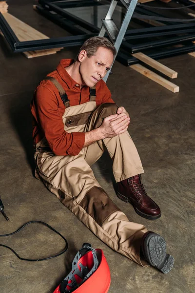
[[[70,106],[80,105],[89,102],[89,87],[80,88],[65,67],[74,62],[72,59],[62,59],[57,69],[47,76],[52,76],[63,86]],[[111,98],[111,92],[100,80],[96,84],[96,104],[114,103]],[[34,145],[45,136],[51,150],[59,156],[75,156],[82,149],[85,141],[83,132],[67,133],[64,130],[62,116],[65,111],[59,91],[50,81],[41,81],[35,90],[34,98],[31,104],[33,114],[33,140]]]

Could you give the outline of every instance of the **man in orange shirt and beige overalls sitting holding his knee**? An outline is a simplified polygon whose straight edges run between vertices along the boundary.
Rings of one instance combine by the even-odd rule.
[[[36,177],[112,249],[167,273],[174,258],[166,253],[164,238],[129,222],[90,167],[107,149],[117,196],[142,217],[160,217],[159,207],[141,184],[144,171],[127,132],[129,115],[124,107],[117,107],[102,81],[115,55],[106,38],[91,38],[75,62],[61,60],[57,70],[40,82],[32,103]]]

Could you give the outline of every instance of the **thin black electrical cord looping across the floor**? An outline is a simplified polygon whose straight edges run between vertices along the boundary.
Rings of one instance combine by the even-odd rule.
[[[0,237],[5,237],[5,236],[10,236],[10,235],[14,235],[16,233],[18,233],[20,230],[22,230],[25,226],[27,226],[28,224],[31,224],[31,223],[40,223],[40,224],[43,224],[45,225],[46,227],[48,227],[49,229],[53,230],[54,232],[56,232],[66,243],[66,246],[65,248],[63,249],[63,251],[59,252],[58,254],[55,254],[55,255],[52,255],[52,256],[49,256],[49,257],[45,257],[45,258],[40,258],[40,259],[29,259],[29,258],[23,258],[23,257],[20,257],[18,255],[18,253],[16,251],[14,251],[11,247],[9,246],[6,246],[6,245],[3,245],[3,244],[0,244],[0,246],[3,246],[5,248],[8,248],[9,250],[11,250],[12,252],[14,252],[16,254],[16,256],[20,259],[20,260],[27,260],[27,261],[41,261],[41,260],[46,260],[46,259],[50,259],[50,258],[54,258],[54,257],[57,257],[61,254],[63,254],[64,252],[67,251],[68,249],[68,242],[66,240],[66,238],[64,238],[64,236],[62,236],[57,230],[55,230],[54,228],[52,228],[51,226],[49,226],[48,224],[44,223],[44,222],[41,222],[41,221],[30,221],[26,224],[24,224],[20,229],[16,230],[15,232],[12,232],[10,234],[3,234],[3,235],[0,235]]]

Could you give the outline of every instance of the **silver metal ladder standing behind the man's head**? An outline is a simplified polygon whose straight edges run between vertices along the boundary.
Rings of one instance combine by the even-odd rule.
[[[112,16],[113,16],[113,13],[115,11],[115,8],[117,6],[118,1],[120,1],[127,9],[120,29],[117,28],[116,23],[112,19]],[[102,20],[102,27],[99,31],[98,36],[104,37],[105,33],[107,32],[111,42],[114,44],[114,46],[117,50],[117,53],[120,48],[121,42],[124,41],[124,35],[126,33],[129,22],[132,18],[132,15],[134,13],[136,5],[137,5],[137,0],[112,0],[110,3],[110,7],[108,9],[107,15],[106,15],[105,19]],[[116,56],[114,58],[114,61],[116,59]],[[113,63],[114,63],[114,61],[113,61]],[[113,64],[112,64],[112,66],[113,66]],[[112,66],[111,66],[111,68],[112,68]],[[110,68],[110,70],[111,70],[111,68]],[[103,78],[104,82],[107,81],[107,79],[109,77],[110,70],[107,72],[107,74]]]

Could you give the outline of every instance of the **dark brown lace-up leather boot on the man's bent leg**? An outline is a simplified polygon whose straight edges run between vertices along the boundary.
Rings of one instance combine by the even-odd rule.
[[[143,218],[156,220],[161,216],[160,208],[147,195],[141,184],[140,174],[118,182],[117,197],[131,203],[138,215]]]

